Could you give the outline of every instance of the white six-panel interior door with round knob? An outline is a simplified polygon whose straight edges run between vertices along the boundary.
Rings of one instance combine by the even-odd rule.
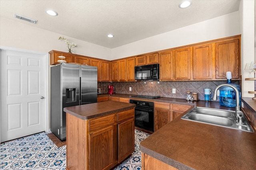
[[[45,55],[0,54],[1,142],[45,131]]]

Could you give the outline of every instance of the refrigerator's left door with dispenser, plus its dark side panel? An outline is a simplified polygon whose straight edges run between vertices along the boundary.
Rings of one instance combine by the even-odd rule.
[[[60,140],[66,139],[64,107],[79,105],[80,65],[58,64],[51,67],[50,126]]]

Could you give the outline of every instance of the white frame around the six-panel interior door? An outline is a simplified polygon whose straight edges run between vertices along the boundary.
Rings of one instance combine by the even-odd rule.
[[[44,131],[49,132],[50,131],[50,121],[49,121],[49,53],[42,53],[38,51],[30,51],[26,49],[17,49],[13,47],[6,47],[6,46],[1,46],[0,45],[0,51],[1,50],[6,50],[6,51],[14,51],[14,52],[19,52],[19,53],[30,53],[30,54],[35,54],[35,55],[44,55],[45,57],[45,125],[44,125]],[[0,56],[1,57],[1,56]],[[1,89],[1,88],[0,88]],[[0,92],[1,95],[1,92]],[[1,108],[1,98],[0,98],[0,108]],[[0,122],[1,122],[1,110],[0,110]],[[0,126],[0,132],[1,132],[1,126]],[[0,141],[1,141],[1,134],[0,134]]]

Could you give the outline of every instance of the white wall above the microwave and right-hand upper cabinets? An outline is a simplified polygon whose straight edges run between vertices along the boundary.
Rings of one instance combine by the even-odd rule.
[[[202,21],[112,49],[112,59],[240,34],[238,12]]]

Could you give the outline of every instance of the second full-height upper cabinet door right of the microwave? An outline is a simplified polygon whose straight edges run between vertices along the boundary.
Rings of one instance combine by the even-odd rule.
[[[175,80],[190,80],[190,48],[175,50]]]

